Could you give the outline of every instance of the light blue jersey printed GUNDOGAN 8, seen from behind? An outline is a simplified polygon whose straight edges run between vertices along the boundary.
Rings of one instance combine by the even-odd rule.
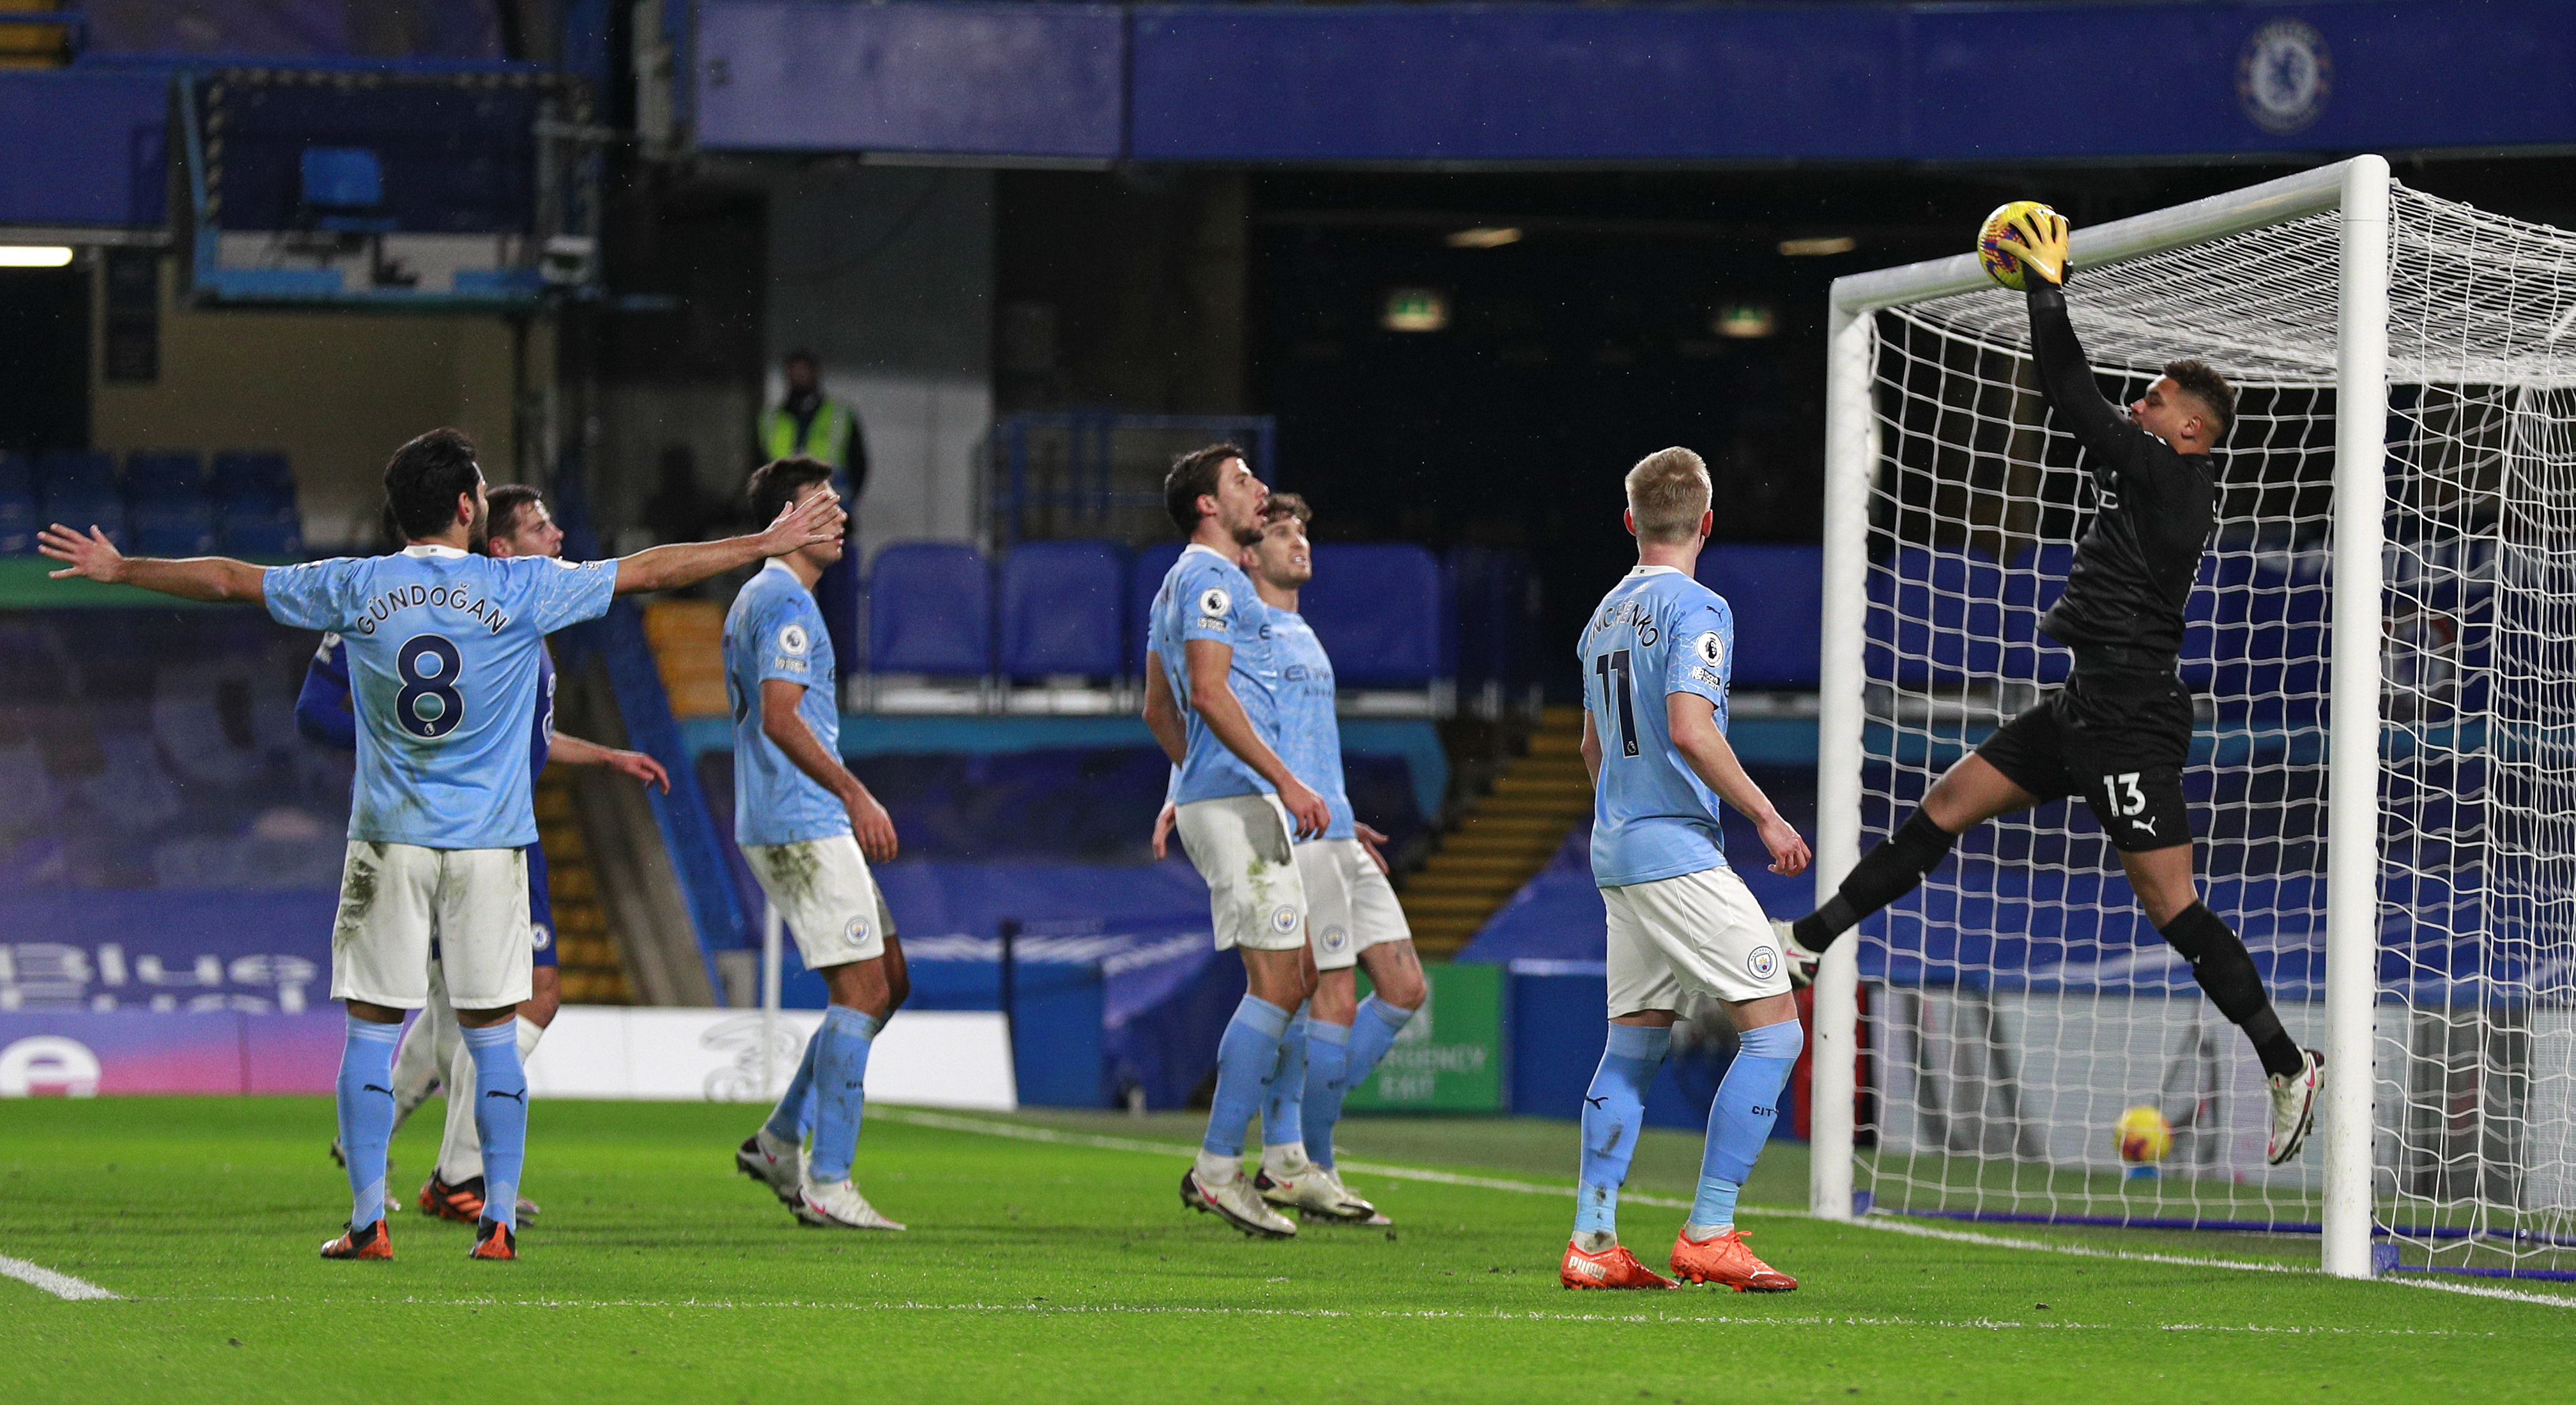
[[[278,624],[348,647],[358,784],[348,838],[422,848],[536,843],[531,717],[546,634],[608,614],[616,562],[492,559],[453,547],[270,567]]]

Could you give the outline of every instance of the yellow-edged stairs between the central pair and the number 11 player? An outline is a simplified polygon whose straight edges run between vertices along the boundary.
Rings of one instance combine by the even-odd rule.
[[[1450,956],[1476,928],[1548,866],[1587,815],[1592,776],[1582,758],[1584,709],[1551,706],[1476,809],[1443,835],[1440,851],[1404,879],[1404,920],[1425,956]]]

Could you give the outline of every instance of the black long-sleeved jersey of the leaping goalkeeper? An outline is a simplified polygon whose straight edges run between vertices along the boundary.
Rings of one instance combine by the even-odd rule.
[[[2040,616],[2040,632],[2066,647],[2151,652],[2169,668],[2182,655],[2182,611],[2218,521],[2215,464],[2208,454],[2174,454],[2102,400],[2066,320],[2066,291],[2038,278],[2030,284],[2030,348],[2040,392],[2084,446],[2099,490],[2099,510],[2066,570],[2066,593]]]

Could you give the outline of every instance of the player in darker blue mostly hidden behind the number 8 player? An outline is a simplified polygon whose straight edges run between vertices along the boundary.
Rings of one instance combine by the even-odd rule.
[[[489,518],[477,547],[487,557],[554,559],[564,554],[564,528],[554,523],[554,513],[546,510],[538,490],[510,482],[484,492],[484,500]],[[358,712],[348,696],[348,644],[337,634],[322,637],[312,668],[304,670],[304,691],[296,696],[296,727],[307,737],[343,750],[355,750],[358,745]],[[554,730],[554,657],[541,650],[536,657],[536,724],[528,730],[531,781],[546,768],[546,761],[608,766],[644,784],[659,784],[670,794],[670,776],[659,761],[639,750],[605,748]],[[536,1042],[546,1034],[546,1026],[554,1023],[554,1011],[564,1003],[554,951],[554,895],[546,887],[546,848],[538,843],[528,846],[528,944],[536,951],[536,969],[531,972],[528,1003],[518,1008],[518,1021],[513,1023],[523,1065],[536,1052]],[[448,1005],[448,987],[433,967],[430,1003],[402,1031],[402,1047],[394,1052],[394,1132],[402,1132],[402,1124],[412,1119],[412,1111],[440,1083],[451,1090],[474,1088],[474,1062],[466,1054],[456,1008]],[[343,1160],[337,1142],[332,1142],[332,1160]],[[420,1186],[420,1209],[440,1219],[474,1225],[482,1219],[482,1137],[474,1132],[474,1098],[451,1096],[438,1160],[430,1165],[430,1178]],[[528,1196],[518,1199],[520,1225],[536,1219],[536,1201]]]

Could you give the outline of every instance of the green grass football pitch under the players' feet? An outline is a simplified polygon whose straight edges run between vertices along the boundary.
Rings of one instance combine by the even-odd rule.
[[[0,1268],[116,1294],[0,1276],[0,1400],[2566,1400],[2576,1330],[2550,1284],[2246,1268],[2308,1240],[1785,1209],[1744,1225],[1795,1294],[1564,1292],[1564,1121],[1350,1119],[1345,1181],[1396,1227],[1293,1243],[1180,1209],[1180,1114],[871,1109],[858,1176],[904,1235],[801,1230],[734,1176],[755,1109],[533,1121],[518,1263],[415,1212],[394,1263],[322,1263],[327,1098],[0,1103]],[[435,1137],[430,1106],[397,1188]],[[1775,1145],[1747,1204],[1803,1173]],[[1698,1137],[1649,1132],[1620,1214],[1646,1263],[1695,1176]]]

